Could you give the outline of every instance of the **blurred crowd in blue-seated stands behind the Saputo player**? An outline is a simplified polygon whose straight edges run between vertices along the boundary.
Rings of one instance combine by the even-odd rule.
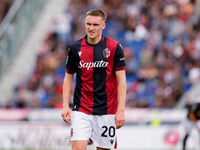
[[[62,108],[67,48],[85,35],[84,16],[91,8],[105,11],[103,34],[123,46],[126,106],[174,107],[200,76],[199,6],[198,0],[71,0],[52,20],[33,73],[6,107]]]

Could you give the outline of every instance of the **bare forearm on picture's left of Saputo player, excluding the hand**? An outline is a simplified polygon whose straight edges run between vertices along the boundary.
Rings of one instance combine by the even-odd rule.
[[[72,93],[73,77],[66,75],[63,82],[63,107],[69,107],[69,99]]]

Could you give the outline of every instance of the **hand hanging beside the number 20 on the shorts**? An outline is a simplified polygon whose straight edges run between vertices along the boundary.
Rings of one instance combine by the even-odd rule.
[[[119,129],[125,124],[125,114],[123,110],[118,110],[115,114],[116,128]]]

